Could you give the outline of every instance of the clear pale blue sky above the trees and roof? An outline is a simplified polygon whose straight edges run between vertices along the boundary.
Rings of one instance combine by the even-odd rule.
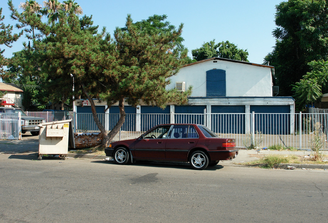
[[[12,0],[16,8],[21,0]],[[42,1],[38,1],[42,4]],[[62,2],[62,1],[61,1]],[[199,48],[204,42],[215,39],[215,42],[227,41],[236,44],[238,48],[247,49],[248,60],[262,64],[263,58],[273,50],[275,39],[272,31],[276,28],[275,6],[281,0],[216,0],[216,1],[179,1],[179,0],[139,0],[139,1],[90,1],[76,0],[83,9],[83,14],[92,15],[95,25],[106,27],[113,34],[115,27],[124,27],[127,14],[133,21],[141,21],[149,16],[166,14],[167,20],[178,27],[184,23],[184,45],[191,50]],[[7,1],[1,0],[5,24],[14,25],[10,19]],[[11,57],[12,52],[22,49],[21,38],[12,48],[5,49],[4,55]]]

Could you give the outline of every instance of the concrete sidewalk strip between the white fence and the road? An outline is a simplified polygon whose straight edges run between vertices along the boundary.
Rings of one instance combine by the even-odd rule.
[[[0,155],[1,154],[24,154],[24,155],[33,155],[37,156],[39,151],[39,140],[38,136],[30,136],[24,137],[22,140],[0,140]],[[241,166],[242,163],[250,162],[256,159],[253,155],[256,154],[264,154],[264,155],[297,155],[297,156],[308,156],[311,151],[274,151],[274,150],[262,150],[260,153],[255,150],[246,150],[240,149],[238,156],[230,160],[220,161],[219,164],[223,166]],[[323,151],[323,153],[327,154],[327,151]],[[105,159],[106,156],[100,155],[91,155],[91,154],[73,154],[69,153],[67,157],[72,158],[86,158],[86,159]],[[240,164],[239,164],[240,163]],[[320,164],[289,164],[295,166],[298,169],[328,169],[328,164],[320,165]],[[242,165],[243,166],[243,165]],[[287,164],[283,164],[280,167],[281,169],[287,168]]]

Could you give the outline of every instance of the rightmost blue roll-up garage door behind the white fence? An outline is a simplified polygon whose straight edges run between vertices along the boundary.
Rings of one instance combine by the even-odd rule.
[[[251,105],[255,114],[255,132],[262,134],[290,134],[289,105]],[[259,113],[259,114],[258,114]]]

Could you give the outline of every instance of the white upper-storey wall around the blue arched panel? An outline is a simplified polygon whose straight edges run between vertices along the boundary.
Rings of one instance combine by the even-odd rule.
[[[226,71],[226,97],[272,97],[272,75],[270,67],[214,60],[182,67],[171,77],[167,89],[175,87],[175,82],[186,82],[186,89],[193,85],[191,97],[206,97],[206,71],[222,69]]]

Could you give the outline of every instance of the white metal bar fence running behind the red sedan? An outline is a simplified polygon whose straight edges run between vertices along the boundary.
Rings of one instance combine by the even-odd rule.
[[[74,132],[99,132],[92,113],[28,112],[28,115],[45,118],[46,122],[73,119]],[[119,114],[101,113],[97,115],[108,132],[115,126],[120,117]],[[8,134],[13,135],[7,133],[10,132],[10,128],[6,126],[10,126],[10,123],[3,124],[4,121],[5,119],[1,120],[3,127],[0,129],[0,134],[2,139],[9,137]],[[219,137],[236,139],[238,147],[247,147],[253,144],[260,148],[281,145],[282,147],[310,149],[313,137],[320,136],[323,139],[323,148],[328,149],[328,114],[324,113],[223,114],[204,111],[203,114],[126,114],[121,131],[113,140],[134,139],[155,125],[166,123],[206,125]]]

